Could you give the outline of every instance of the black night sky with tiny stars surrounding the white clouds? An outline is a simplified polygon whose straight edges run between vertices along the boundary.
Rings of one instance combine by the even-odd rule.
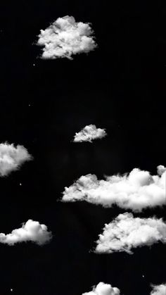
[[[148,295],[151,282],[165,281],[162,244],[132,256],[89,253],[104,223],[124,212],[120,208],[57,202],[81,175],[133,168],[155,174],[166,164],[166,6],[110,2],[1,3],[0,142],[23,144],[34,161],[0,179],[0,232],[32,218],[49,227],[53,240],[41,247],[0,245],[0,294],[13,288],[19,295],[82,295],[106,282],[124,295]],[[92,23],[98,49],[73,61],[37,58],[39,30],[65,15]],[[75,132],[89,124],[106,128],[108,137],[73,144]]]

